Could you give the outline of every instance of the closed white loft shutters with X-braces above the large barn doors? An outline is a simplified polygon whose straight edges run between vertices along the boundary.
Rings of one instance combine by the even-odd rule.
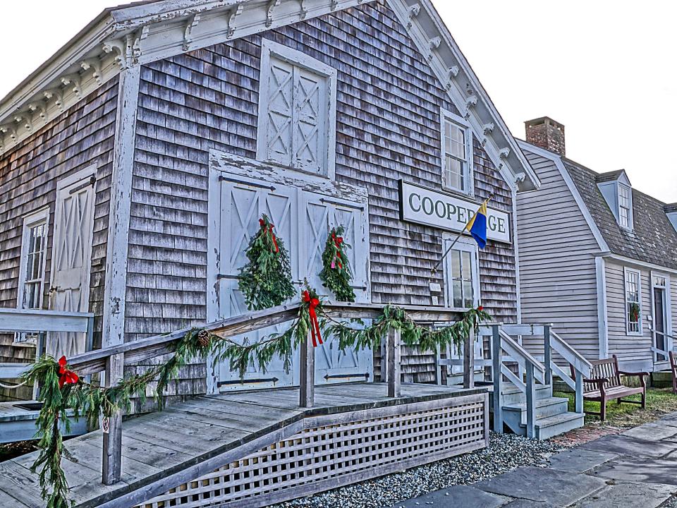
[[[257,159],[334,178],[336,69],[263,40]]]

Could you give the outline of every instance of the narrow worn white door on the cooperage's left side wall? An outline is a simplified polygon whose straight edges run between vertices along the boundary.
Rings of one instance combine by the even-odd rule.
[[[87,168],[56,184],[51,310],[89,312],[95,171],[94,167]],[[55,358],[69,358],[85,352],[85,339],[85,333],[52,332],[45,352]]]

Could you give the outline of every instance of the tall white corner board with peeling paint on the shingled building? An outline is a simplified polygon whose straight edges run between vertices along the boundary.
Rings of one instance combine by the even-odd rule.
[[[139,66],[126,68],[120,75],[106,250],[103,346],[121,344],[124,341],[127,253],[139,80]]]

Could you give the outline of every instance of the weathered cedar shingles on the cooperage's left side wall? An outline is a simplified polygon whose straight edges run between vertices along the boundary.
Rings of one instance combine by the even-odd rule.
[[[96,164],[90,311],[97,317],[95,327],[100,332],[117,93],[118,79],[114,78],[0,157],[0,306],[17,305],[23,216],[49,206],[43,301],[44,308],[48,307],[56,183]],[[100,340],[99,335],[95,340]],[[1,340],[0,362],[23,361],[35,354],[32,348],[10,346],[11,337],[5,335]]]

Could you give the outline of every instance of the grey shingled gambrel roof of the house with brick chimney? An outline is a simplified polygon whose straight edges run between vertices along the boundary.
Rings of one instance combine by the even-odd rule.
[[[677,231],[665,214],[664,202],[633,188],[634,227],[628,231],[618,224],[597,187],[600,174],[565,157],[562,162],[611,253],[677,269]]]

